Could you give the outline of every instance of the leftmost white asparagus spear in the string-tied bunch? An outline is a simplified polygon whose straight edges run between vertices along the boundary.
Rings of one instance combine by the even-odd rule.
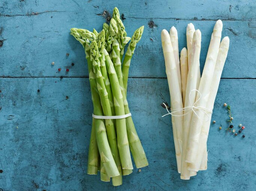
[[[175,58],[171,43],[171,38],[169,33],[163,29],[161,33],[162,38],[162,48],[163,48],[163,55],[165,57],[165,68],[166,68],[166,75],[168,79],[169,91],[171,96],[171,107],[172,109],[182,109],[182,97],[181,91],[178,84],[178,75],[177,75],[177,67],[175,64]],[[183,111],[176,112],[176,115],[183,115]],[[182,150],[182,125],[183,125],[183,116],[174,116],[175,120],[175,129],[177,134],[174,134],[174,139],[177,138],[178,145],[175,144],[175,150],[179,150],[181,153]],[[177,137],[176,137],[177,136]],[[180,160],[180,158],[178,158]],[[177,165],[181,164],[177,162]],[[179,167],[178,167],[179,169]]]

